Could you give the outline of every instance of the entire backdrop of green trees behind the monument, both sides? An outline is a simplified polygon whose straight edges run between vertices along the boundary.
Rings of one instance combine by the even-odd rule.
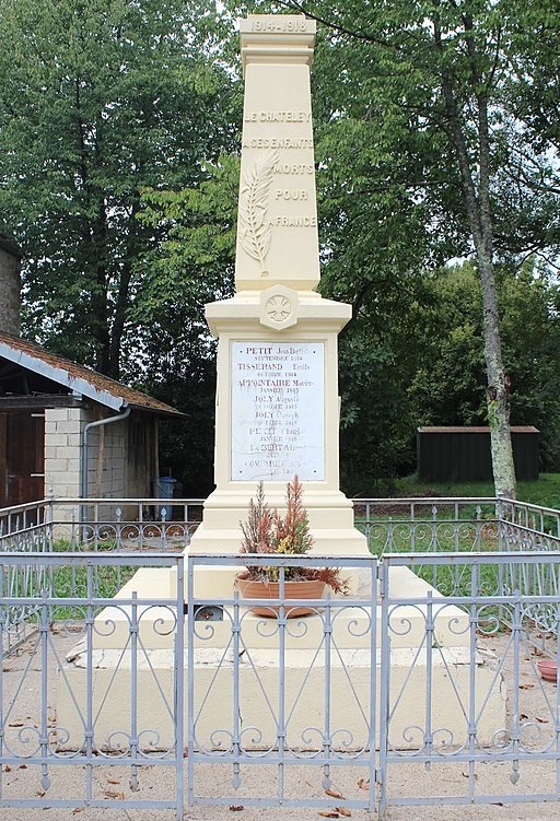
[[[320,289],[352,305],[343,489],[411,471],[427,423],[493,425],[499,491],[510,422],[560,469],[552,0],[0,0],[0,231],[24,251],[26,335],[187,411],[164,465],[209,490],[203,305],[233,288],[247,11],[319,20]]]

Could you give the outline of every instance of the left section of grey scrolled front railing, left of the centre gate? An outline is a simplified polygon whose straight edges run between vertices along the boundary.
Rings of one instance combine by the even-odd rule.
[[[174,591],[141,600],[133,593],[96,595],[101,571],[116,574],[124,562],[137,571],[173,571]],[[74,572],[82,593],[11,595],[7,579],[22,563],[36,578],[54,577],[55,587],[57,575]],[[182,556],[5,553],[0,584],[2,634],[13,609],[33,612],[35,626],[0,671],[0,807],[172,808],[182,818]],[[164,636],[165,680],[152,650]],[[164,727],[152,725],[155,705]],[[168,790],[147,798],[139,790],[149,778],[167,779]]]

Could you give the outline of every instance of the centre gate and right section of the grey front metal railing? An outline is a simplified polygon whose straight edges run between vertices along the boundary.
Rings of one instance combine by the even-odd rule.
[[[189,559],[189,595],[196,607],[215,605],[211,598],[194,596],[196,568],[241,561]],[[328,560],[315,563],[322,561]],[[442,597],[416,576],[402,575],[420,562],[460,567],[464,593]],[[380,563],[340,560],[340,565],[361,565],[360,595],[315,602],[320,628],[314,643],[306,623],[288,618],[272,624],[256,621],[242,607],[256,601],[233,597],[222,601],[225,641],[222,636],[222,655],[214,658],[215,675],[197,678],[199,667],[210,664],[201,645],[208,642],[209,652],[215,646],[217,629],[190,625],[190,802],[332,808],[336,800],[326,790],[334,789],[343,794],[338,801],[345,808],[377,809],[383,817],[387,807],[398,805],[557,801],[558,689],[540,676],[537,662],[544,657],[534,638],[542,630],[536,618],[542,612],[547,629],[558,634],[558,596],[520,589],[486,595],[483,577],[489,570],[499,577],[500,567],[513,568],[512,575],[521,577],[521,568],[536,566],[547,566],[549,575],[558,577],[560,555],[387,554]],[[364,571],[371,574],[369,586],[363,586]],[[283,602],[285,613],[292,603],[299,602]],[[503,620],[511,628],[504,630]],[[268,640],[266,649],[259,642],[262,636]],[[224,669],[234,683],[225,714],[221,713],[225,723],[217,726],[213,717],[217,703],[223,703]],[[260,707],[256,694],[261,695]],[[200,795],[197,766],[217,761],[230,769],[234,790]],[[548,784],[536,788],[533,770],[541,762],[549,764]],[[245,776],[248,789],[244,788],[240,773],[267,765],[278,771],[275,791],[256,794],[255,783],[268,787],[270,776],[257,779],[250,774]],[[284,791],[285,772],[310,765],[322,774],[325,791],[322,795],[308,775],[305,783],[313,785],[315,798],[300,796],[293,801]],[[350,767],[355,777],[332,775]],[[402,781],[407,771],[408,795]],[[350,786],[341,793],[340,783]]]

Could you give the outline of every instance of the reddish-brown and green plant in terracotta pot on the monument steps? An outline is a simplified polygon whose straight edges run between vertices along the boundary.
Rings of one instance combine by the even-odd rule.
[[[255,499],[249,500],[248,516],[240,521],[243,532],[242,553],[280,553],[301,555],[313,547],[307,511],[303,506],[303,485],[296,476],[288,482],[285,513],[270,509],[265,500],[264,483],[259,482]],[[245,578],[266,584],[278,582],[279,567],[247,567]],[[346,595],[348,580],[340,578],[336,567],[285,567],[285,580],[317,579],[328,585],[334,593]]]

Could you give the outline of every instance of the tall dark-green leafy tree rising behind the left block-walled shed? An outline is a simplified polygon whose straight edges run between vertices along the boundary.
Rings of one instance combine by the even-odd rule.
[[[24,330],[116,378],[124,351],[156,347],[142,191],[198,185],[234,144],[215,21],[200,0],[0,4],[0,227],[24,251]]]

